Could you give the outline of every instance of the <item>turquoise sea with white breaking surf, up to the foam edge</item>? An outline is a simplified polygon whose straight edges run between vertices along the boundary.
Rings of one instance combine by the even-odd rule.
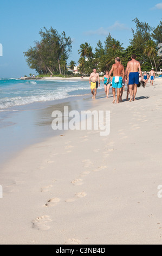
[[[34,102],[66,99],[89,92],[89,82],[83,80],[41,81],[0,78],[0,111]]]

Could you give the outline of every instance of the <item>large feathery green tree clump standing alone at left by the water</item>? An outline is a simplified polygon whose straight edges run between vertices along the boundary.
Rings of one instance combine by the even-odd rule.
[[[61,35],[52,27],[39,32],[42,40],[35,41],[35,46],[24,52],[27,63],[38,74],[54,74],[55,71],[65,74],[67,59],[72,51],[72,40],[66,37],[65,32]]]

